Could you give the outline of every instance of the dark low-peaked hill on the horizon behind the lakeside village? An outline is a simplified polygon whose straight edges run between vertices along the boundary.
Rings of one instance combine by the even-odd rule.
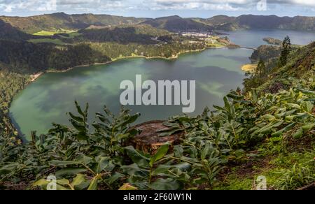
[[[196,20],[190,18],[182,18],[178,15],[146,20],[145,22],[142,22],[142,24],[150,24],[153,27],[173,32],[212,30],[208,24],[197,22]]]

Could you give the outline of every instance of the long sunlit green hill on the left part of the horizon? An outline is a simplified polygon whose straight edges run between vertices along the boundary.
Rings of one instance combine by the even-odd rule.
[[[136,17],[120,17],[114,15],[53,13],[31,17],[0,16],[0,20],[11,24],[13,27],[34,34],[38,31],[54,31],[57,29],[79,30],[96,26],[114,26],[120,24],[137,24],[147,19]]]

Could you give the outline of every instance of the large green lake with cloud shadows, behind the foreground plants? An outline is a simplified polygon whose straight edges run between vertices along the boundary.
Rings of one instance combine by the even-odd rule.
[[[182,54],[176,60],[123,59],[106,65],[73,68],[65,73],[45,73],[15,96],[10,117],[20,132],[29,138],[30,132],[45,133],[52,122],[69,124],[66,112],[75,112],[74,101],[90,103],[90,123],[94,113],[107,105],[113,112],[120,110],[120,82],[132,80],[137,74],[142,80],[196,80],[196,110],[200,114],[206,106],[222,105],[231,89],[242,87],[245,78],[241,65],[249,63],[253,50],[211,49]],[[179,105],[131,105],[140,112],[138,121],[167,119],[179,115]]]

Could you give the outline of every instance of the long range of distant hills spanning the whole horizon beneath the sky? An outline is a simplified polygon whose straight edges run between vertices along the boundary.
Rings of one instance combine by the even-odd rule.
[[[293,29],[315,31],[315,17],[278,17],[276,15],[240,15],[229,17],[216,15],[207,19],[183,18],[178,15],[168,17],[137,18],[115,15],[93,15],[52,13],[30,17],[0,16],[0,20],[27,34],[39,31],[80,30],[87,27],[108,27],[117,25],[150,24],[167,31],[233,31],[237,29]]]

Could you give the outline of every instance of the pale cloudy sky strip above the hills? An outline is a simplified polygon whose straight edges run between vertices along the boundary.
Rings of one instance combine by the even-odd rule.
[[[0,15],[96,13],[135,17],[315,16],[315,0],[0,0]]]

